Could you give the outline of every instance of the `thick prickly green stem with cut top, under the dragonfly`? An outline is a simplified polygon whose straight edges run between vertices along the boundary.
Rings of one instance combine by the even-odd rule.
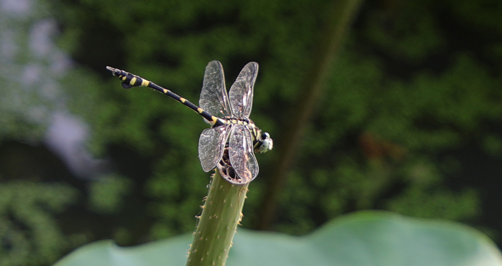
[[[212,176],[188,252],[187,266],[225,264],[237,224],[242,218],[247,185],[231,184],[218,171]]]

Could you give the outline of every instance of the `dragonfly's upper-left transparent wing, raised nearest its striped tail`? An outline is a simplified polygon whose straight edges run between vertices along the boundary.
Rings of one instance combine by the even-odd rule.
[[[231,116],[225,88],[225,75],[219,61],[211,61],[206,66],[199,107],[216,117]],[[209,123],[206,119],[204,120]]]

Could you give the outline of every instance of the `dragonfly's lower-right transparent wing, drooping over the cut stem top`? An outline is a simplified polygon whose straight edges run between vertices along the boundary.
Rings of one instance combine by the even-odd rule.
[[[247,183],[258,175],[258,162],[253,153],[251,132],[243,125],[233,125],[228,144],[230,164],[235,173]]]

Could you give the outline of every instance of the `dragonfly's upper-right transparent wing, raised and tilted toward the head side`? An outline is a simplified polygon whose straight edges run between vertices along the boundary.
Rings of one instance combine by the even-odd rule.
[[[251,113],[253,90],[257,75],[258,63],[247,63],[228,92],[233,115],[237,118],[248,118]]]

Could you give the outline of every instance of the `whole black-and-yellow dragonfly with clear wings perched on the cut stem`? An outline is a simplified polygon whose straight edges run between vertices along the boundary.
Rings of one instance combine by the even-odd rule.
[[[225,75],[219,61],[206,66],[199,106],[172,91],[129,72],[106,67],[122,81],[122,87],[149,87],[197,112],[210,125],[199,138],[199,159],[202,169],[215,168],[230,183],[246,184],[256,178],[259,167],[255,152],[264,153],[274,146],[270,134],[263,132],[249,119],[258,75],[258,63],[247,63],[227,93]],[[222,172],[223,170],[223,172]]]

